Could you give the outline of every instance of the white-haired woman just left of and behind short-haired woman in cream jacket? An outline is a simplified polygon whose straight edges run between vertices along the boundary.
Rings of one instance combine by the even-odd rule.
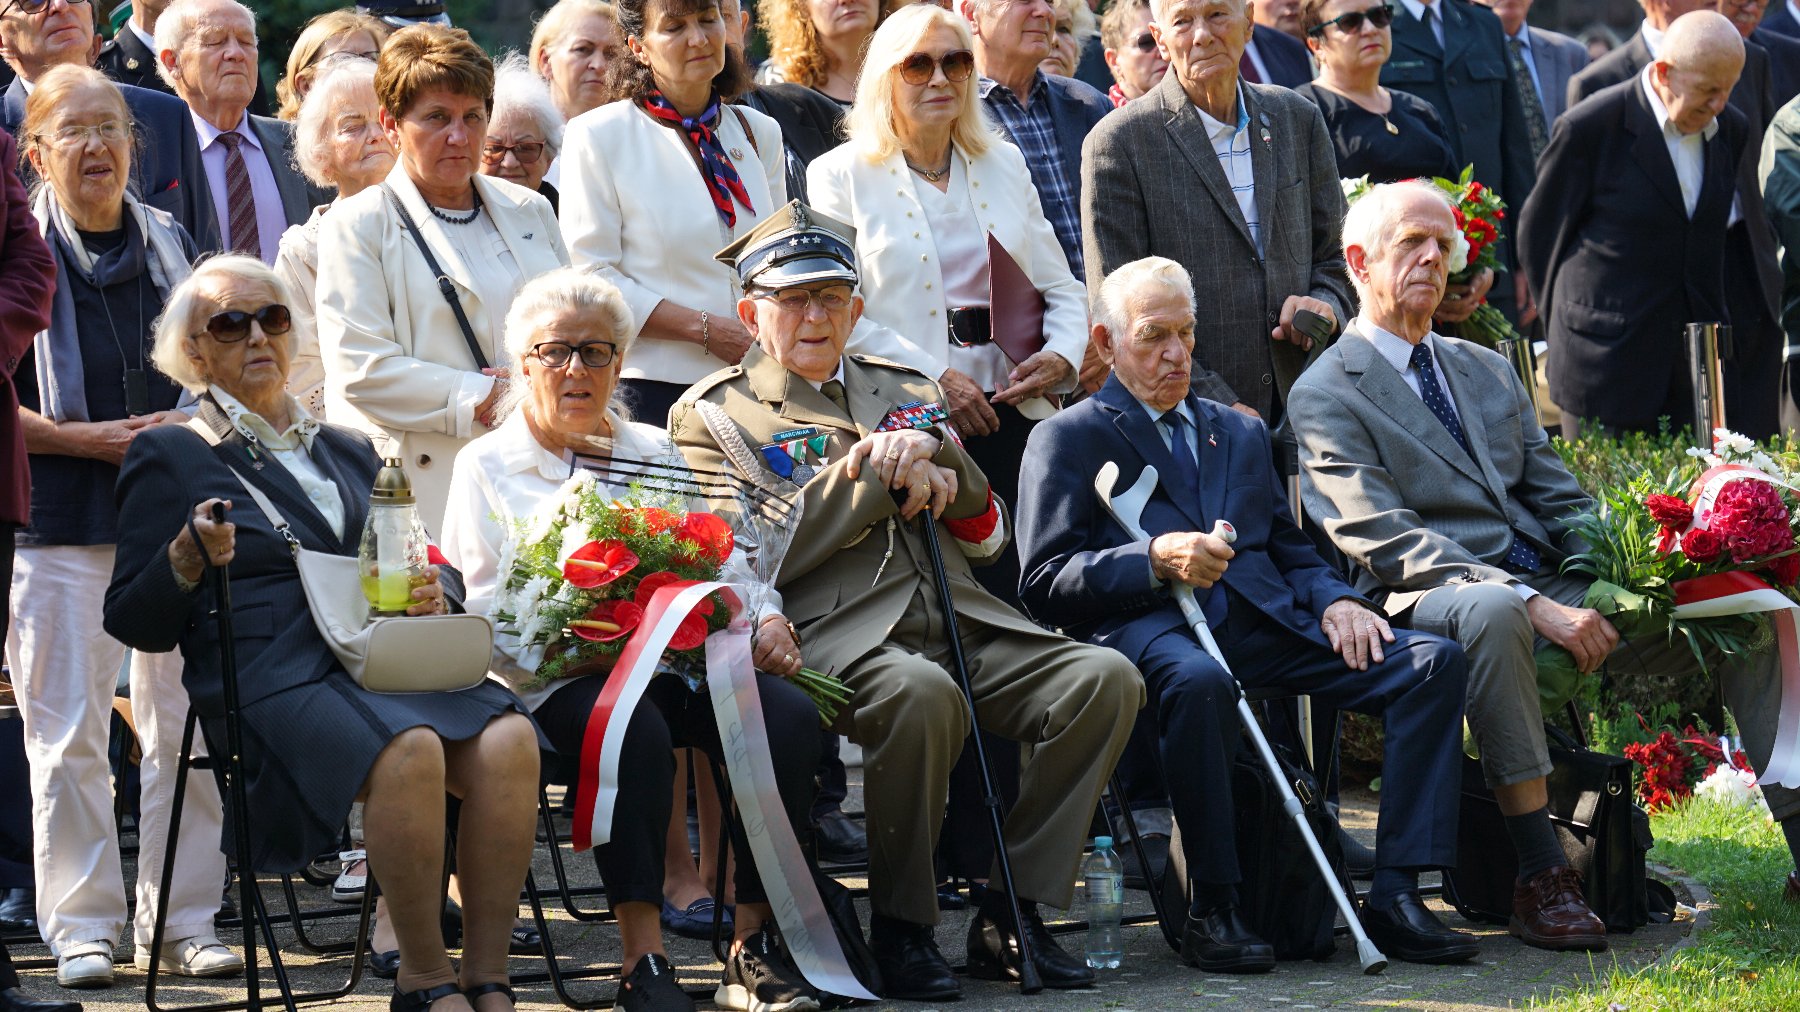
[[[324,412],[326,367],[319,360],[313,328],[313,290],[319,283],[319,223],[338,200],[380,184],[394,167],[394,144],[382,130],[374,101],[374,61],[340,54],[328,58],[310,77],[306,99],[293,124],[293,157],[301,173],[337,198],[313,209],[313,216],[288,225],[275,254],[275,274],[293,294],[293,369],[288,391],[306,411]]]

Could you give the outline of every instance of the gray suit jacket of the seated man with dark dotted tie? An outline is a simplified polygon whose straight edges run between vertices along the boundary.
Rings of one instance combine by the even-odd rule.
[[[1472,456],[1354,321],[1289,403],[1307,513],[1357,564],[1355,589],[1388,614],[1453,582],[1516,583],[1499,567],[1514,531],[1546,564],[1579,551],[1566,524],[1593,506],[1512,366],[1454,337],[1433,344]]]

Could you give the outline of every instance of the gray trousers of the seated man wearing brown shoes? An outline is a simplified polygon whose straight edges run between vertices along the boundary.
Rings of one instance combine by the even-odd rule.
[[[1589,578],[1539,573],[1525,580],[1553,601],[1580,607]],[[1481,773],[1489,785],[1523,783],[1550,773],[1544,747],[1544,715],[1537,704],[1537,661],[1546,641],[1532,628],[1525,600],[1505,583],[1449,583],[1418,598],[1400,616],[1406,625],[1447,636],[1469,655],[1469,729],[1481,745]],[[1694,668],[1687,639],[1643,636],[1622,639],[1607,657],[1615,670],[1679,672]],[[1775,747],[1780,713],[1780,657],[1775,650],[1744,657],[1708,657],[1724,688],[1724,702],[1737,718],[1744,751],[1755,769]],[[1764,798],[1777,819],[1800,814],[1800,792],[1764,785]]]

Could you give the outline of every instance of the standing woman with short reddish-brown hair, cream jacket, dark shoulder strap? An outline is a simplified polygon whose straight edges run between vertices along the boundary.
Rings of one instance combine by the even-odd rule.
[[[569,252],[549,202],[477,175],[493,63],[466,32],[394,32],[374,90],[400,160],[383,185],[338,202],[320,223],[326,418],[364,429],[405,461],[436,533],[455,454],[488,430],[506,387],[500,333],[513,292],[569,263]],[[486,369],[394,198],[448,277]]]

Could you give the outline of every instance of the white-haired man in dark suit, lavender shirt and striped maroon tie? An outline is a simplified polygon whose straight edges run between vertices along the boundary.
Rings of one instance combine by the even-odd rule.
[[[275,263],[281,234],[331,193],[295,167],[292,124],[248,113],[256,52],[256,14],[236,0],[175,0],[157,18],[157,68],[193,115],[225,248]]]

